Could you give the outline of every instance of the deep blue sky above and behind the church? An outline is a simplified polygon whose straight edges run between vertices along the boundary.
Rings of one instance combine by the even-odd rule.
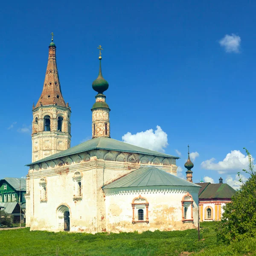
[[[0,176],[27,174],[32,104],[43,88],[54,32],[61,89],[72,110],[72,145],[91,137],[91,84],[101,44],[111,137],[153,129],[136,138],[155,138],[160,148],[168,143],[167,154],[179,151],[183,175],[189,143],[199,155],[194,182],[222,176],[233,184],[247,166],[243,147],[256,153],[255,8],[249,1],[5,1]]]

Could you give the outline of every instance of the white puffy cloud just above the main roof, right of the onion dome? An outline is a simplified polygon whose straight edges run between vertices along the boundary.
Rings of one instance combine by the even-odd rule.
[[[137,132],[137,134],[127,134],[122,136],[122,140],[132,145],[148,148],[155,151],[164,152],[163,148],[168,145],[167,134],[157,125],[157,129],[149,129],[147,131]]]

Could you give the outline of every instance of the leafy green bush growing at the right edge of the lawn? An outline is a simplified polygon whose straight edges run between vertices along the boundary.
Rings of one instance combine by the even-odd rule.
[[[246,152],[249,157],[249,172],[244,171],[250,177],[233,195],[232,203],[223,207],[224,213],[216,230],[218,241],[225,244],[256,236],[256,174],[253,171],[252,157],[247,150]]]

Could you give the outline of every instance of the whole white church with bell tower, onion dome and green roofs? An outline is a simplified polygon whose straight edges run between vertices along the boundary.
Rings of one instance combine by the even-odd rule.
[[[179,157],[111,139],[103,94],[109,84],[98,49],[92,139],[70,148],[71,109],[61,93],[53,39],[49,45],[43,91],[32,110],[27,227],[87,233],[196,228],[201,186],[192,183],[191,168],[190,180],[181,179]]]

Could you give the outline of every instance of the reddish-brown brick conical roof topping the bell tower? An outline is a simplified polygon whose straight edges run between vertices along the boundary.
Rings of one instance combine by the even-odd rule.
[[[56,46],[53,43],[53,38],[49,45],[49,57],[43,91],[35,107],[37,108],[41,105],[66,106],[61,93],[61,84],[58,77],[58,68],[56,63]]]

